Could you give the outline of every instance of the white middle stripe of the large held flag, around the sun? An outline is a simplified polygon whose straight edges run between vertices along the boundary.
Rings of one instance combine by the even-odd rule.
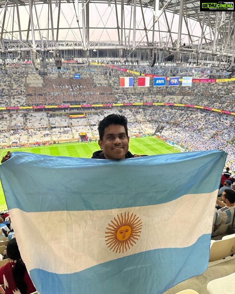
[[[27,213],[14,208],[10,215],[16,238],[24,243],[21,247],[23,260],[32,250],[38,253],[27,258],[28,271],[40,268],[53,273],[75,273],[147,250],[184,248],[194,244],[200,236],[212,231],[217,193],[218,190],[189,194],[168,203],[113,210]],[[141,232],[133,247],[127,247],[124,253],[116,253],[106,245],[105,232],[109,224],[112,225],[111,220],[121,213],[124,216],[125,212],[139,217]],[[71,256],[74,262],[71,262]]]

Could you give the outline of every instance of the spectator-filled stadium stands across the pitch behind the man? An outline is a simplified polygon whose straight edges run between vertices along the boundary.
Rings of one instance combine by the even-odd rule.
[[[98,122],[110,113],[121,113],[128,118],[130,136],[157,134],[187,151],[220,148],[228,152],[227,164],[235,170],[235,81],[178,87],[166,82],[155,87],[150,77],[149,86],[138,87],[139,76],[132,73],[141,72],[185,76],[184,69],[156,71],[145,66],[130,66],[128,72],[115,66],[50,69],[47,77],[31,67],[0,71],[1,146],[83,141],[81,133],[97,139]],[[74,79],[74,73],[80,78]],[[133,87],[120,87],[120,77],[130,74]],[[214,81],[204,69],[197,74],[194,79]]]

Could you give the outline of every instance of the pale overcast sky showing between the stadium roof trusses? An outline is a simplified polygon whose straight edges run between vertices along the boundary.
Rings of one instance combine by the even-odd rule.
[[[126,39],[128,41],[130,37],[130,41],[133,40],[133,31],[129,31],[130,27],[130,16],[131,16],[131,5],[124,6],[125,10],[125,35],[123,34],[123,40]],[[48,38],[48,4],[43,5],[36,5],[37,14],[39,18],[39,26],[41,31],[41,34],[44,38]],[[58,19],[58,7],[56,7],[56,4],[52,4],[53,9],[53,26],[54,28],[57,27],[57,19]],[[121,27],[121,6],[117,5],[118,10],[118,20],[119,20],[119,26]],[[153,24],[153,9],[152,8],[143,8],[144,16],[145,16],[145,22],[147,29],[150,29]],[[22,39],[26,39],[27,35],[27,27],[28,27],[28,21],[29,21],[29,8],[28,6],[20,6],[19,7],[19,13],[20,13],[20,19],[21,19],[21,31],[22,31]],[[2,24],[4,15],[4,9],[1,9],[0,12],[0,21]],[[79,25],[81,29],[81,34],[83,36],[83,30],[82,30],[82,6],[79,3],[78,4],[78,11],[77,16],[79,19]],[[35,31],[35,38],[40,39],[40,36],[38,34],[38,25],[36,21],[36,14],[35,14],[35,8],[33,6],[33,19],[34,19],[34,29]],[[177,39],[177,32],[178,32],[178,24],[179,24],[179,16],[175,15],[173,19],[172,13],[167,13],[167,19],[169,22],[169,26],[171,27],[172,31],[172,37],[174,40]],[[173,19],[173,22],[172,22]],[[4,28],[7,29],[7,31],[12,32],[12,23],[13,23],[13,7],[8,7],[6,12],[6,21]],[[188,26],[189,31],[194,36],[201,36],[201,28],[199,23],[197,21],[188,20]],[[68,29],[69,27],[73,29]],[[118,41],[118,35],[117,35],[117,21],[116,21],[116,14],[115,14],[115,5],[111,4],[108,6],[108,3],[105,4],[96,4],[92,3],[90,4],[90,41]],[[78,29],[77,25],[77,19],[75,14],[75,9],[72,3],[70,4],[61,4],[61,16],[60,16],[60,24],[59,24],[59,40],[66,40],[66,41],[76,41],[81,40],[80,31]],[[63,29],[66,28],[66,29]],[[93,28],[93,29],[92,29]],[[105,29],[104,29],[105,28]],[[107,28],[113,28],[113,29],[107,29]],[[132,20],[131,20],[131,28],[133,28],[133,11],[132,11]],[[51,18],[49,13],[49,40],[52,40],[52,34],[51,34]],[[136,8],[136,41],[140,41],[142,37],[145,36],[145,32],[138,30],[138,29],[144,29],[144,23],[142,20],[142,14],[140,7],[137,6]],[[160,29],[160,34],[159,34]],[[18,20],[17,20],[17,14],[15,9],[14,14],[14,38],[19,39],[19,28],[18,28]],[[169,34],[165,33],[164,31],[167,31],[167,25],[165,22],[164,14],[160,17],[159,24],[155,24],[155,41],[167,41],[169,39]],[[209,29],[207,29],[207,32],[209,32]],[[183,20],[183,28],[182,28],[182,42],[189,43],[189,38],[187,36],[187,28],[184,24]],[[168,36],[168,38],[166,38]],[[10,34],[4,34],[3,36],[6,39],[11,39]],[[54,37],[56,39],[56,29],[54,29]],[[148,33],[149,40],[152,41],[152,32]],[[29,36],[29,39],[31,39],[31,33]],[[43,38],[43,39],[44,39]],[[193,37],[193,40],[196,40],[197,37]],[[143,41],[146,41],[146,37],[143,38]]]

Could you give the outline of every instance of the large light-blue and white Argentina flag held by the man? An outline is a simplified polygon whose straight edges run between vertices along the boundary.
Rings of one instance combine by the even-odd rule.
[[[162,294],[203,273],[226,154],[12,153],[1,182],[38,293]]]

